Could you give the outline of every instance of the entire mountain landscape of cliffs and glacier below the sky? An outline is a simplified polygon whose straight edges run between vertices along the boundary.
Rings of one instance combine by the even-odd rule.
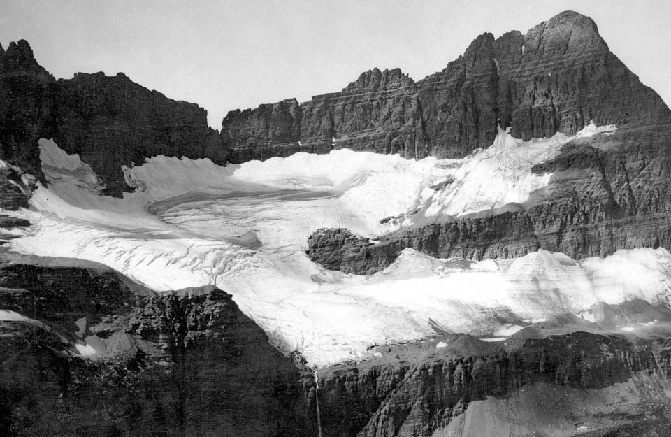
[[[0,435],[668,436],[670,176],[575,12],[220,132],[10,43]]]

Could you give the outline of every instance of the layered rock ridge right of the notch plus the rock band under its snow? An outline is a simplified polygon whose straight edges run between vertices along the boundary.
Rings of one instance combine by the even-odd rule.
[[[535,166],[552,173],[550,184],[516,211],[434,217],[386,240],[436,257],[473,259],[539,248],[582,258],[671,247],[671,113],[578,13],[556,15],[526,35],[483,34],[446,69],[417,83],[373,70],[340,93],[268,108],[224,118],[224,145],[234,159],[332,147],[459,158],[489,147],[498,127],[528,140],[572,135],[591,120],[616,124],[614,135],[573,141]],[[281,145],[271,134],[278,129],[290,131]],[[381,143],[385,136],[400,142]]]

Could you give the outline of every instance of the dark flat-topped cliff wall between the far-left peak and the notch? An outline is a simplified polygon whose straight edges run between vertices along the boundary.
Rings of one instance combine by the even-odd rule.
[[[78,73],[60,79],[51,99],[55,141],[107,183],[108,194],[128,191],[122,165],[140,165],[145,157],[209,157],[224,164],[217,132],[207,111],[174,101],[118,73]]]

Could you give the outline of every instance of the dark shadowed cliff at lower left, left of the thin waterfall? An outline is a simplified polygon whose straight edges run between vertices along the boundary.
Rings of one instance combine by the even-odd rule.
[[[309,434],[300,371],[214,287],[22,259],[0,266],[0,315],[3,436]]]

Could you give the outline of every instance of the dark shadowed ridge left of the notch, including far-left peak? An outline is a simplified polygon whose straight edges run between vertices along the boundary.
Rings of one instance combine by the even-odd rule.
[[[168,99],[122,73],[56,81],[22,40],[0,50],[0,159],[20,174],[41,178],[41,137],[79,153],[106,182],[106,194],[129,190],[121,166],[141,164],[145,157],[210,157],[219,164],[226,159],[203,108]],[[0,174],[1,190],[16,191],[12,177],[17,178]],[[29,192],[29,185],[23,188]],[[24,206],[25,198],[18,196],[12,206]]]

